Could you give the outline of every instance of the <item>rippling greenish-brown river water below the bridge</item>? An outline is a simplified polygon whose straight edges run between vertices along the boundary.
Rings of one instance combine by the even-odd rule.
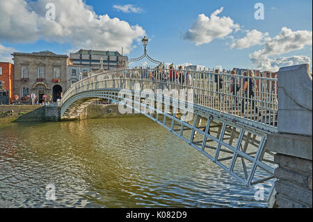
[[[0,123],[0,207],[266,207],[254,195],[148,118]]]

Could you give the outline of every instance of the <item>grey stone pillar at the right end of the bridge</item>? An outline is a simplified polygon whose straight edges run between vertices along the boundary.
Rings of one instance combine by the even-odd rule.
[[[312,75],[309,65],[278,72],[278,133],[268,134],[274,157],[276,205],[312,207]]]

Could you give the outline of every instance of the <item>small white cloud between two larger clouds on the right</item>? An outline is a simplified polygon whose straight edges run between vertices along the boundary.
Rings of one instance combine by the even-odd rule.
[[[230,48],[233,49],[235,47],[237,49],[246,49],[254,45],[261,45],[266,36],[268,36],[268,33],[262,33],[253,29],[252,31],[248,31],[244,38],[235,40],[234,43],[230,45]]]

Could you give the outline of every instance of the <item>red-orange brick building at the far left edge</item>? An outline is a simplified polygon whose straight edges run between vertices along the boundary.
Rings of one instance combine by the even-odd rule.
[[[1,95],[8,94],[8,103],[14,100],[14,65],[0,62]]]

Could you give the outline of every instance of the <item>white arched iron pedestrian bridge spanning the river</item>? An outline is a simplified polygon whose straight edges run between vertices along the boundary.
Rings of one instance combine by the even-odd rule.
[[[97,100],[115,100],[120,112],[144,114],[259,190],[275,180],[266,135],[278,131],[276,78],[164,68],[99,71],[67,90],[61,118],[81,118]]]

